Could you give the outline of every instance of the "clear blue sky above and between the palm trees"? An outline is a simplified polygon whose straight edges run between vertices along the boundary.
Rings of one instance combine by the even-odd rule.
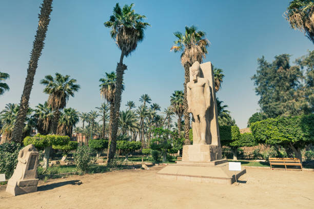
[[[0,71],[10,74],[11,90],[0,97],[0,110],[6,103],[19,103],[24,87],[27,63],[37,28],[42,1],[0,1]],[[240,128],[259,110],[250,77],[257,70],[257,58],[268,61],[278,54],[291,54],[291,61],[313,50],[311,42],[294,31],[283,17],[290,0],[281,1],[120,1],[134,3],[136,13],[147,16],[151,24],[145,39],[131,56],[124,58],[128,70],[124,76],[122,109],[128,100],[140,105],[148,94],[162,110],[170,105],[174,90],[182,90],[184,70],[180,54],[170,52],[173,32],[184,32],[195,25],[206,32],[211,45],[205,61],[224,70],[225,78],[217,97],[228,105]],[[53,2],[45,48],[38,62],[30,106],[43,103],[40,80],[56,72],[77,79],[80,91],[67,107],[89,112],[104,101],[99,79],[115,70],[120,50],[103,23],[112,14],[116,1]],[[291,64],[293,64],[291,62]]]

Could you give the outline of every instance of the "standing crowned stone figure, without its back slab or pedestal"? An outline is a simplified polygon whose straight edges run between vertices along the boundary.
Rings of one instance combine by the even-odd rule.
[[[211,91],[209,80],[201,76],[200,62],[196,61],[191,67],[192,80],[187,83],[188,112],[193,115],[193,122],[197,137],[194,137],[193,144],[210,144],[206,140],[206,133],[209,129],[207,112],[210,108]]]

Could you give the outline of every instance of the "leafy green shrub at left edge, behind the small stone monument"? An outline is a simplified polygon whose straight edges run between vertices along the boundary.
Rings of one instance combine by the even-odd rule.
[[[9,142],[0,144],[0,174],[5,174],[6,179],[11,178],[17,164],[18,152],[21,144]]]

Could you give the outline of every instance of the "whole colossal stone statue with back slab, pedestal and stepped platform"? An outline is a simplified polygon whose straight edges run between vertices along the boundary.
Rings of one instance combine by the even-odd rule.
[[[190,67],[188,112],[192,113],[193,145],[184,145],[182,161],[169,164],[157,178],[231,184],[235,176],[222,159],[218,111],[211,62]],[[236,173],[237,178],[246,171]]]

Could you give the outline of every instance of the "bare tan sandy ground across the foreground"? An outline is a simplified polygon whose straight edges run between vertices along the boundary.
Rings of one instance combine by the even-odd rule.
[[[314,208],[314,172],[247,169],[239,185],[220,185],[156,180],[161,168],[40,181],[16,197],[2,189],[0,208]]]

